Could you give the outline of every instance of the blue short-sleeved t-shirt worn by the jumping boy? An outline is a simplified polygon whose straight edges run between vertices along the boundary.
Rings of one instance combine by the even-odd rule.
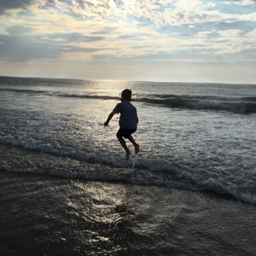
[[[123,129],[137,129],[137,109],[130,102],[118,103],[114,110],[115,113],[120,113],[119,126]]]

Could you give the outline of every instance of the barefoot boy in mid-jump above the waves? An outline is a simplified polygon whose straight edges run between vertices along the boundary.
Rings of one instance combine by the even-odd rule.
[[[105,126],[108,126],[109,121],[115,114],[121,114],[119,119],[120,129],[117,132],[117,139],[126,151],[126,159],[129,159],[131,151],[127,148],[123,137],[132,142],[135,148],[135,154],[139,153],[139,144],[137,144],[132,137],[132,133],[137,130],[139,119],[137,109],[132,105],[132,103],[130,103],[131,99],[132,90],[123,90],[121,94],[121,103],[118,103],[115,106],[114,110],[108,115],[107,121],[104,123]]]

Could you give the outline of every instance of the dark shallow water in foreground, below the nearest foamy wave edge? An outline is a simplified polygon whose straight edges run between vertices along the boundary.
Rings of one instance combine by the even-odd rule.
[[[230,198],[3,171],[0,176],[3,255],[255,252],[255,207]]]

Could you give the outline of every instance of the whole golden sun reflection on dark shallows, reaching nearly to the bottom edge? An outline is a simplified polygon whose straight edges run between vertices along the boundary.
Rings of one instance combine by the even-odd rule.
[[[80,248],[95,248],[107,255],[123,250],[132,230],[133,210],[127,186],[118,183],[72,180],[66,200],[67,214],[76,218]]]

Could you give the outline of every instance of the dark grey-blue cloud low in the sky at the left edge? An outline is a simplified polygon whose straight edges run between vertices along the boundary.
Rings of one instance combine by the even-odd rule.
[[[33,30],[25,26],[10,26],[6,31],[8,35],[0,35],[0,57],[12,62],[62,58],[70,53],[95,53],[100,49],[76,46],[71,42],[103,40],[101,37],[90,37],[80,33],[56,33],[46,38],[46,36],[33,34]],[[62,40],[55,41],[52,38],[62,38]]]

